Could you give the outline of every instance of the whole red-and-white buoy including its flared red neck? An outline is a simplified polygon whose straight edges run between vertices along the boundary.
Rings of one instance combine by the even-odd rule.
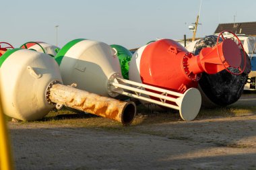
[[[239,49],[239,46],[243,49],[242,44],[236,44],[232,39],[222,39],[223,42],[213,48],[203,48],[197,56],[174,40],[162,39],[152,42],[133,54],[129,79],[185,93],[187,89],[197,87],[201,73],[216,74],[228,67],[239,70],[239,73],[232,74],[243,73],[246,59]],[[241,66],[243,56],[245,62]]]

